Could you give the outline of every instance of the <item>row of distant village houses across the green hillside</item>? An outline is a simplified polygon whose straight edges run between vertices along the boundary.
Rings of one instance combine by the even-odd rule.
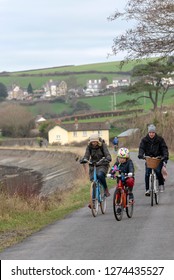
[[[148,83],[149,81],[147,81]],[[162,83],[170,84],[174,86],[174,79],[162,79]],[[58,97],[92,97],[105,95],[109,92],[118,91],[120,88],[128,87],[131,84],[129,78],[122,77],[120,79],[113,79],[112,83],[108,83],[107,78],[88,80],[84,88],[70,88],[68,89],[65,81],[53,81],[49,80],[44,84],[41,89],[33,90],[33,93],[29,93],[27,89],[20,87],[19,85],[13,84],[8,89],[8,100],[19,100],[19,101],[32,101],[32,100],[48,100]]]

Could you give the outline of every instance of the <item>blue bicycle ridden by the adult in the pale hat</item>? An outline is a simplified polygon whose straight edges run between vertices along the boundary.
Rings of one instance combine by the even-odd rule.
[[[94,217],[96,217],[99,212],[99,206],[102,214],[105,214],[106,212],[105,190],[103,185],[97,179],[97,171],[96,171],[96,166],[99,163],[101,163],[101,161],[103,161],[104,159],[105,158],[102,158],[98,162],[91,162],[89,160],[80,161],[80,163],[88,163],[89,165],[92,165],[94,167],[93,181],[91,182],[91,186],[90,186],[90,205],[91,205],[92,215]]]

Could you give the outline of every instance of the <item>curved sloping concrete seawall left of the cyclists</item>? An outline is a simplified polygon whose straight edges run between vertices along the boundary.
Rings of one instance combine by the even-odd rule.
[[[1,149],[0,180],[10,193],[19,191],[47,196],[72,187],[85,171],[71,152]]]

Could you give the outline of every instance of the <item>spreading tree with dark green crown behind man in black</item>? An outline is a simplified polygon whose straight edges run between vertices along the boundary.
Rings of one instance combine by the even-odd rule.
[[[135,66],[131,71],[131,85],[124,89],[134,99],[125,100],[118,106],[135,106],[140,99],[149,99],[153,110],[162,109],[165,96],[172,86],[169,82],[172,69],[172,65],[155,61]]]

